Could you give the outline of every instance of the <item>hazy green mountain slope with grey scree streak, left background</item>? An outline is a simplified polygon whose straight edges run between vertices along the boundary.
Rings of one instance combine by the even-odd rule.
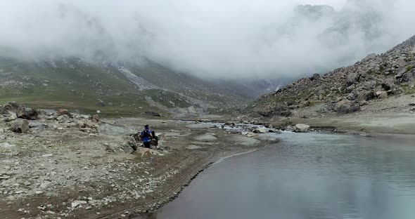
[[[247,97],[152,62],[86,62],[79,58],[21,61],[0,58],[0,102],[65,107],[103,114],[226,112]]]

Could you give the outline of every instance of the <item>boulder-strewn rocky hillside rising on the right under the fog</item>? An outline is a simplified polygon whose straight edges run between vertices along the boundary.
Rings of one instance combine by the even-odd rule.
[[[414,67],[415,36],[381,55],[368,55],[355,65],[324,75],[314,74],[263,95],[248,107],[248,112],[254,117],[317,117],[358,112],[374,102],[413,95]]]

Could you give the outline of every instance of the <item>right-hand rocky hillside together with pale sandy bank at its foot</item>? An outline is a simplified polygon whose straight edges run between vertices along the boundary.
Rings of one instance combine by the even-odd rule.
[[[284,127],[415,134],[415,36],[355,65],[299,79],[262,95],[241,119]]]

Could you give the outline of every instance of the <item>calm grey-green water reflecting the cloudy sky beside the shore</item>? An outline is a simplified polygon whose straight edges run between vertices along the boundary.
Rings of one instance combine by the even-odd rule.
[[[279,138],[213,164],[156,218],[415,218],[414,139]]]

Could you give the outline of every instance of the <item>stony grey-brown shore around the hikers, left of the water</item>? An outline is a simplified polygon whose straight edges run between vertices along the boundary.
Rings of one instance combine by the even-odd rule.
[[[130,135],[150,124],[161,150]],[[6,218],[132,218],[174,199],[220,157],[277,142],[272,128],[161,119],[102,119],[1,106],[0,211]]]

